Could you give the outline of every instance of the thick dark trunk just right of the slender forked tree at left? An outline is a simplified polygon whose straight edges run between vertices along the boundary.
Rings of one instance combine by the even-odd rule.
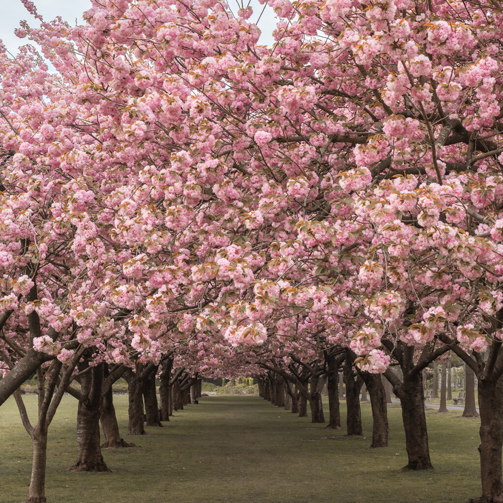
[[[103,460],[100,445],[100,415],[103,367],[99,364],[80,377],[81,398],[77,409],[77,460],[72,471],[111,471]]]

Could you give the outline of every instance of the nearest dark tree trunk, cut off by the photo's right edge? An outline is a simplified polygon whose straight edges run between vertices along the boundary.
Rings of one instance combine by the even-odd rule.
[[[480,473],[482,496],[470,499],[474,503],[503,501],[501,479],[501,448],[503,448],[503,381],[479,380],[480,410]]]

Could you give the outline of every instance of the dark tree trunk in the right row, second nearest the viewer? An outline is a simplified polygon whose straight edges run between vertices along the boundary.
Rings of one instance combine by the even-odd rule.
[[[400,398],[405,429],[408,463],[402,470],[431,470],[433,466],[428,447],[423,375],[421,372],[404,374],[403,383],[393,389]]]

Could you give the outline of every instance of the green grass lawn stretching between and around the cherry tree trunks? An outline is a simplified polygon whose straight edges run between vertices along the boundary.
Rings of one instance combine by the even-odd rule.
[[[25,398],[36,410],[36,396]],[[115,396],[115,406],[125,432],[127,396]],[[255,396],[202,397],[165,428],[125,437],[139,447],[104,450],[114,473],[75,474],[76,401],[65,396],[49,430],[48,503],[459,503],[479,495],[478,420],[428,410],[436,469],[399,473],[407,459],[399,406],[389,408],[385,449],[368,448],[370,405],[362,412],[366,438],[347,438]],[[20,503],[31,444],[12,399],[0,425],[0,503]]]

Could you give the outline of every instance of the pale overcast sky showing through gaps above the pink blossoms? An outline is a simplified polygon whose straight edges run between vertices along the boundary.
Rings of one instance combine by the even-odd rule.
[[[82,21],[82,13],[87,11],[90,6],[90,0],[33,0],[37,6],[39,14],[45,20],[52,20],[57,16],[61,16],[69,24],[74,25]],[[28,20],[29,24],[36,26],[36,20],[30,16],[20,0],[7,0],[2,2],[2,16],[0,16],[0,38],[4,41],[7,48],[13,52],[17,52],[19,45],[26,43],[14,35],[14,30],[19,28],[20,20]],[[245,4],[246,5],[246,4]],[[254,15],[249,21],[256,20],[263,6],[259,5],[257,0],[252,0],[250,5],[254,6]],[[229,0],[229,6],[236,12],[236,0]],[[256,6],[256,7],[255,7]],[[260,42],[262,44],[272,44],[273,39],[271,33],[275,28],[274,12],[270,8],[263,14],[259,27],[262,30]]]

